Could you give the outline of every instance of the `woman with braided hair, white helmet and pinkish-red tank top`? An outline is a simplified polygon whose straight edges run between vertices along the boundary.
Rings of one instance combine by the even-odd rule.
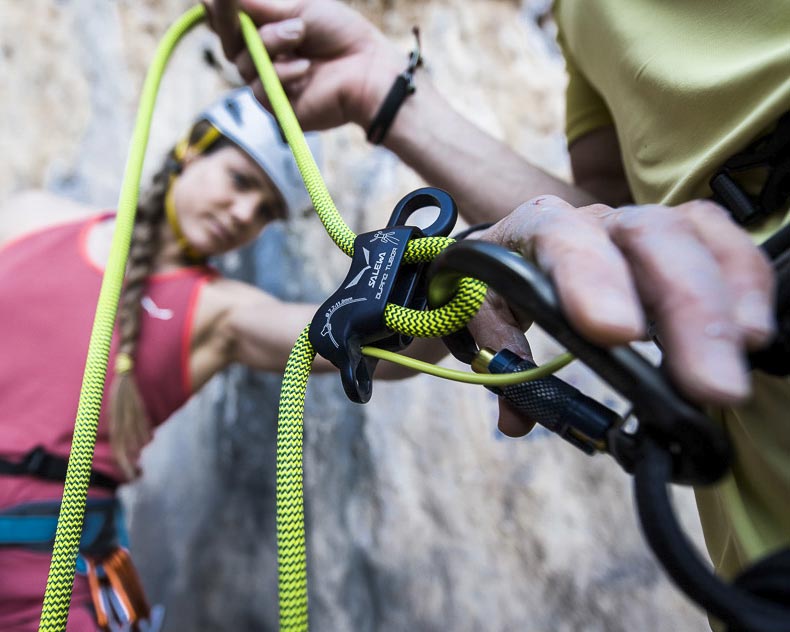
[[[283,369],[315,307],[222,278],[205,260],[308,205],[288,146],[248,89],[203,113],[154,176],[138,208],[110,355],[114,371],[78,563],[88,577],[78,573],[75,580],[68,630],[148,617],[133,568],[117,548],[114,488],[137,473],[154,427],[215,373],[232,362]],[[17,196],[0,211],[0,629],[6,632],[38,627],[114,222],[112,213],[97,215],[45,193]],[[34,534],[33,523],[43,535]],[[112,583],[115,577],[123,588]]]

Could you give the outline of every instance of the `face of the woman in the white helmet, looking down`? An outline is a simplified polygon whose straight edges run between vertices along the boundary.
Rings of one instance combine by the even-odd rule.
[[[238,248],[282,216],[282,200],[269,178],[233,146],[187,159],[173,187],[181,232],[203,255]]]

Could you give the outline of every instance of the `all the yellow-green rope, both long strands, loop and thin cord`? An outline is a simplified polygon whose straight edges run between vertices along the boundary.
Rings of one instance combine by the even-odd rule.
[[[128,258],[143,160],[148,143],[153,108],[164,69],[178,41],[205,19],[202,5],[184,13],[165,33],[147,73],[131,141],[129,158],[121,187],[116,229],[96,308],[88,358],[77,410],[66,482],[55,535],[40,631],[62,632],[66,628],[72,584],[85,515],[91,462],[96,443],[96,429],[101,411],[107,362],[117,313],[118,299]],[[356,235],[345,224],[327,190],[318,166],[305,141],[304,134],[291,108],[274,66],[258,36],[252,20],[240,14],[241,30],[255,67],[272,105],[285,138],[293,151],[297,166],[313,206],[327,233],[337,246],[351,256]],[[403,261],[432,261],[454,243],[447,237],[424,237],[409,241]],[[394,332],[409,336],[444,336],[466,325],[482,304],[486,285],[472,278],[458,283],[455,295],[436,309],[418,311],[388,304],[384,311],[385,325]],[[277,433],[277,547],[280,595],[280,628],[306,630],[307,569],[305,556],[304,502],[302,488],[302,437],[304,398],[307,380],[316,351],[308,339],[309,325],[299,336],[288,359],[283,376]],[[489,385],[512,384],[537,379],[557,370],[569,361],[567,357],[537,370],[511,376],[462,374],[449,369],[431,367],[398,354],[373,347],[365,348],[371,357],[409,364],[412,368],[451,379]],[[452,375],[456,374],[456,375]],[[458,374],[466,375],[460,378]]]

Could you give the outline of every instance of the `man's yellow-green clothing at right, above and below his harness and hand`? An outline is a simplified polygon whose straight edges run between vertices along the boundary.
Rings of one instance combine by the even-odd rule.
[[[790,110],[788,0],[556,0],[573,143],[614,125],[637,203],[710,197],[730,156]],[[761,241],[788,219],[751,230]],[[732,474],[698,489],[706,545],[725,577],[790,546],[790,380],[755,373],[720,411]]]

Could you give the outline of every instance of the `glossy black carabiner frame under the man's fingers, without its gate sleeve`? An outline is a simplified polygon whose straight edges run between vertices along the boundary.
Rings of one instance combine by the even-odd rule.
[[[606,349],[579,335],[562,314],[551,283],[535,266],[494,244],[458,242],[434,259],[428,270],[431,304],[446,302],[464,276],[487,283],[631,402],[638,430],[631,434],[613,424],[606,441],[606,451],[627,472],[633,472],[643,436],[651,436],[672,455],[672,480],[676,483],[711,483],[726,472],[730,445],[724,431],[678,395],[664,373],[630,347]],[[540,389],[539,382],[525,382],[508,390],[524,395]],[[562,405],[560,399],[557,403]],[[557,414],[554,409],[550,412]]]

